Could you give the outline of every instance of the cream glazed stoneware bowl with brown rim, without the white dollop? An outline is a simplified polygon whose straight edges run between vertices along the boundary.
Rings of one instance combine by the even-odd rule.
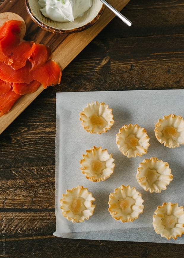
[[[100,0],[93,0],[93,5],[83,16],[70,22],[56,22],[42,15],[38,0],[25,0],[26,10],[31,19],[42,29],[58,34],[81,32],[91,27],[102,15],[105,6]]]

